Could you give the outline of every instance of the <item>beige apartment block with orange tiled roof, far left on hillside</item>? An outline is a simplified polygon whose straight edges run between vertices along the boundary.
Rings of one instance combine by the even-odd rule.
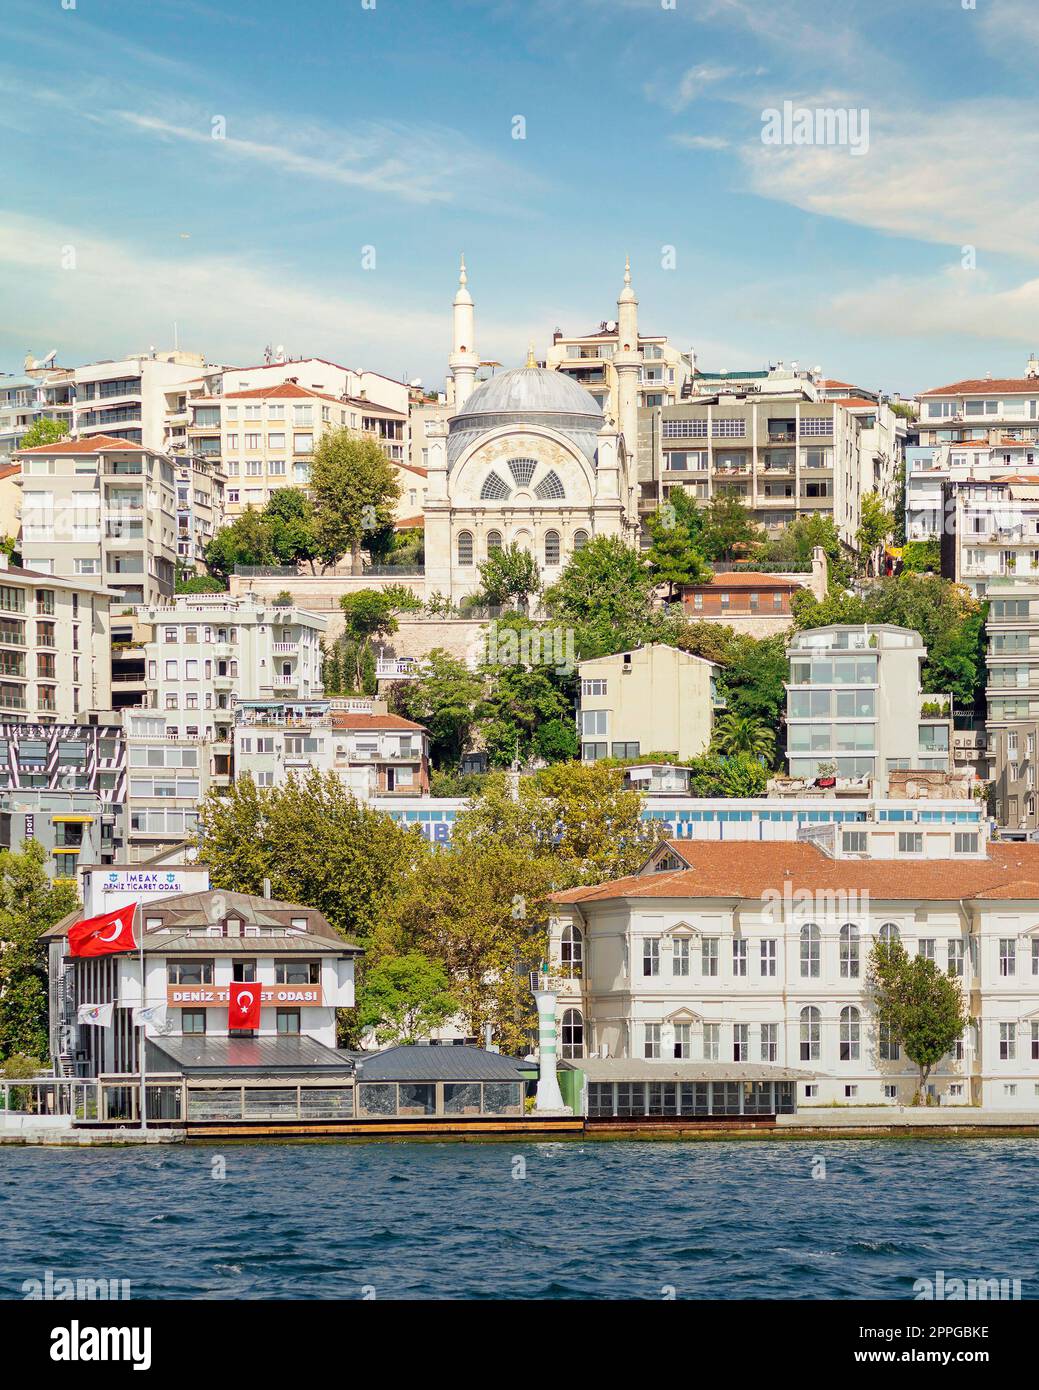
[[[103,581],[128,603],[172,594],[174,464],[107,435],[22,449],[21,553],[31,570]]]

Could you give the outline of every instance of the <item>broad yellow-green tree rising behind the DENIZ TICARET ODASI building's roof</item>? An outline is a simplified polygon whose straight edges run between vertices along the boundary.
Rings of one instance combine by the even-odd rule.
[[[275,898],[317,908],[362,941],[426,853],[417,830],[362,805],[331,771],[264,788],[242,777],[199,806],[199,858],[214,888],[261,892],[270,878]]]

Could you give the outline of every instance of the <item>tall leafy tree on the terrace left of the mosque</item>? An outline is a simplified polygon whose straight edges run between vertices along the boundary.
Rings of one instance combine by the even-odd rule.
[[[314,449],[310,468],[317,553],[324,566],[351,556],[351,573],[362,573],[366,535],[394,524],[401,484],[374,439],[349,430],[330,430]]]

